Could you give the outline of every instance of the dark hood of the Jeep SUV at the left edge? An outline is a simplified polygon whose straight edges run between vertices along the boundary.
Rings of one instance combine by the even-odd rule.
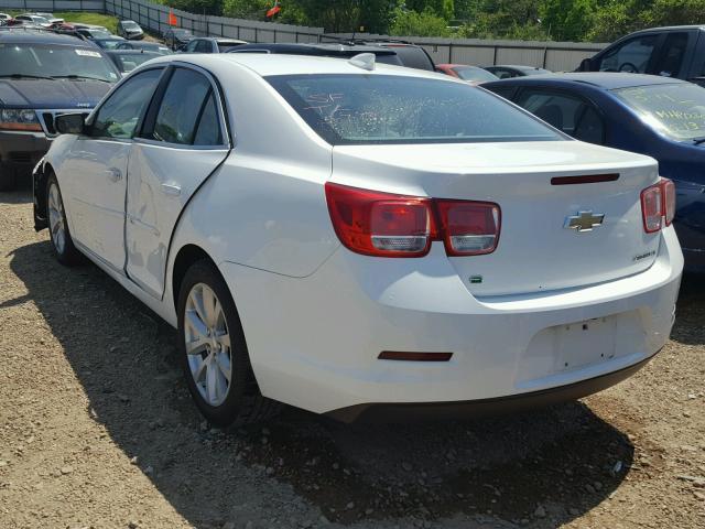
[[[0,105],[46,109],[93,108],[111,87],[111,84],[99,80],[0,79]]]

